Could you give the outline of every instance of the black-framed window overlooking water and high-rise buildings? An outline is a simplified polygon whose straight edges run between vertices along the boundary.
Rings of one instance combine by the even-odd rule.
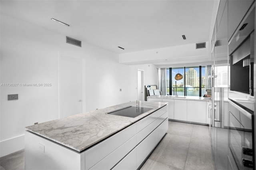
[[[205,94],[207,83],[205,66],[175,67],[166,71],[167,95],[202,96]],[[180,73],[183,78],[176,80],[177,73]]]

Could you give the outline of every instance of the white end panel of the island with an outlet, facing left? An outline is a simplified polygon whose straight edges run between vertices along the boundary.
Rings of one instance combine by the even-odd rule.
[[[25,131],[25,170],[84,170],[84,153]]]

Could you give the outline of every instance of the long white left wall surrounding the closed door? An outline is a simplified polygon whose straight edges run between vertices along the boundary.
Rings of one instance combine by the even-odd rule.
[[[24,127],[58,119],[59,52],[86,60],[86,111],[135,99],[130,91],[137,73],[118,63],[118,54],[85,42],[82,47],[67,44],[66,35],[4,14],[0,19],[0,83],[52,83],[52,87],[0,87],[0,156],[24,148]],[[8,94],[18,94],[19,99],[7,101]]]

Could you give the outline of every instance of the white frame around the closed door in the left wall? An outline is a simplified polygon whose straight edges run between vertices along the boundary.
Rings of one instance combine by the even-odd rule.
[[[82,81],[82,113],[86,112],[86,79],[85,79],[85,59],[77,56],[77,55],[73,55],[73,54],[68,54],[68,53],[61,53],[58,51],[58,116],[59,119],[61,118],[61,73],[60,73],[60,59],[61,57],[69,57],[69,58],[74,58],[74,59],[81,59],[81,63],[82,63],[82,77],[81,77],[81,81]]]

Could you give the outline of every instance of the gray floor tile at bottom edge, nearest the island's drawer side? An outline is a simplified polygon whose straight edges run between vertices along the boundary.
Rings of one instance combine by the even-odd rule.
[[[142,166],[141,170],[181,170],[181,169],[148,159],[146,163]]]

